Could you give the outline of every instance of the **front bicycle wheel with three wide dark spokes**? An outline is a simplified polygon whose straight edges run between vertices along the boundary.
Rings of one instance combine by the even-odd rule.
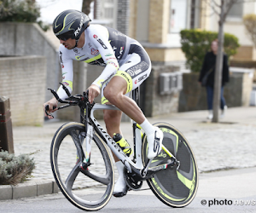
[[[113,193],[112,156],[106,143],[93,135],[90,166],[83,173],[73,141],[79,140],[81,134],[85,135],[84,124],[75,122],[64,124],[56,131],[50,148],[51,168],[61,193],[73,205],[81,210],[100,210],[108,204]],[[77,190],[81,188],[83,190]]]

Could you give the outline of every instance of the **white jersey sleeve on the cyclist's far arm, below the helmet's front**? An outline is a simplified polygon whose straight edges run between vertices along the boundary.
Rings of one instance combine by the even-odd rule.
[[[62,83],[65,84],[70,93],[73,91],[73,60],[68,57],[66,49],[61,45],[59,49],[59,60],[62,71]],[[62,89],[62,85],[57,91],[60,99],[66,99],[67,93]]]

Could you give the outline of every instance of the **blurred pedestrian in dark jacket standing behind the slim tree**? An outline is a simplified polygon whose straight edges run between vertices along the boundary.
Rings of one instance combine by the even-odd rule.
[[[208,106],[208,119],[212,119],[212,103],[213,103],[213,87],[214,87],[214,76],[215,76],[215,64],[218,53],[218,39],[212,41],[211,43],[211,51],[207,52],[205,55],[205,59],[203,62],[203,66],[201,67],[201,73],[199,77],[199,82],[201,86],[206,87],[207,89],[207,106]],[[229,82],[230,79],[230,71],[228,65],[228,57],[227,55],[223,55],[223,68],[222,68],[222,83],[221,83],[221,92],[220,92],[220,108],[221,108],[221,118],[224,117],[224,113],[227,109],[226,101],[224,99],[224,85]]]

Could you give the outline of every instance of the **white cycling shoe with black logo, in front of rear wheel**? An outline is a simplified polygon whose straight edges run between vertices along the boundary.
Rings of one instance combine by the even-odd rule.
[[[154,127],[154,132],[150,135],[147,135],[147,138],[148,159],[152,159],[159,155],[162,150],[162,141],[164,138],[164,134],[158,127]]]

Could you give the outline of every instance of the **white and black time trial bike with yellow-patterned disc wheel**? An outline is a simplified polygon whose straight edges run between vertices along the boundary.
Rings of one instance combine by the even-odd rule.
[[[62,84],[62,83],[61,83]],[[66,105],[79,106],[80,123],[68,122],[56,131],[50,147],[53,175],[61,193],[81,210],[100,210],[111,199],[114,187],[114,167],[111,150],[125,164],[125,182],[131,190],[140,190],[143,181],[164,204],[184,207],[194,198],[198,187],[195,155],[183,134],[171,124],[157,123],[164,133],[160,154],[148,159],[147,135],[132,122],[134,152],[128,157],[94,117],[96,110],[119,110],[110,105],[90,104],[88,93],[71,95],[62,84],[68,98]],[[139,101],[139,89],[132,91]],[[47,114],[49,107],[45,108]],[[94,190],[91,190],[91,188]],[[83,189],[83,190],[79,190]]]

